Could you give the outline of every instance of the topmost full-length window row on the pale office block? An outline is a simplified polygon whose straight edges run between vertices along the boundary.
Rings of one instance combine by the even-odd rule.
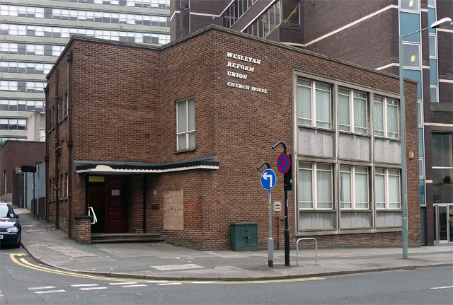
[[[101,23],[120,23],[134,25],[170,26],[170,17],[109,11],[82,11],[51,7],[0,5],[0,15],[29,18],[62,19]]]

